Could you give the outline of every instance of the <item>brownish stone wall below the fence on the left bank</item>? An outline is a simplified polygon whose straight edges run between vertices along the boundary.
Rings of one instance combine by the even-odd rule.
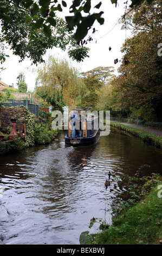
[[[25,124],[25,115],[23,107],[12,107],[0,109],[0,116],[2,119],[2,127],[11,127],[11,119],[16,119],[16,131],[23,133],[23,125]],[[1,129],[6,132],[6,129]]]

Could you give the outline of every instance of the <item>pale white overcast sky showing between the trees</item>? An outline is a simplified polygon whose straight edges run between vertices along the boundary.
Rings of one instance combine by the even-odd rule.
[[[70,1],[67,1],[70,5]],[[99,0],[92,0],[94,6],[99,3]],[[120,48],[124,43],[126,37],[128,37],[131,32],[121,30],[121,25],[118,24],[118,20],[121,15],[125,13],[125,1],[119,0],[117,7],[115,4],[111,3],[111,0],[103,0],[102,5],[99,9],[104,11],[102,17],[105,19],[103,25],[100,25],[98,22],[94,23],[94,27],[96,29],[96,33],[90,33],[86,36],[85,39],[88,39],[88,36],[92,36],[93,41],[88,43],[86,46],[90,48],[88,53],[89,58],[83,60],[83,62],[77,63],[72,59],[68,58],[67,52],[62,51],[59,48],[54,47],[52,50],[47,50],[47,53],[43,57],[46,61],[48,58],[48,54],[52,54],[59,58],[66,57],[72,65],[79,69],[80,72],[86,72],[97,68],[98,66],[114,66],[115,74],[117,74],[117,69],[120,66],[120,59],[122,57],[122,53],[120,52]],[[97,11],[97,9],[95,9]],[[63,11],[57,14],[57,16],[63,17],[69,15],[68,8],[63,8]],[[111,51],[109,51],[109,47],[111,47]],[[32,72],[35,65],[31,65],[30,59],[25,59],[23,62],[19,63],[20,59],[18,56],[14,56],[11,50],[6,51],[9,54],[9,58],[2,65],[5,68],[4,71],[0,73],[1,80],[4,83],[11,85],[14,83],[14,87],[17,88],[17,76],[20,72],[23,72],[25,75],[25,82],[28,84],[28,90],[33,91],[35,88],[35,78],[36,73]],[[119,62],[114,64],[114,59],[118,58]]]

